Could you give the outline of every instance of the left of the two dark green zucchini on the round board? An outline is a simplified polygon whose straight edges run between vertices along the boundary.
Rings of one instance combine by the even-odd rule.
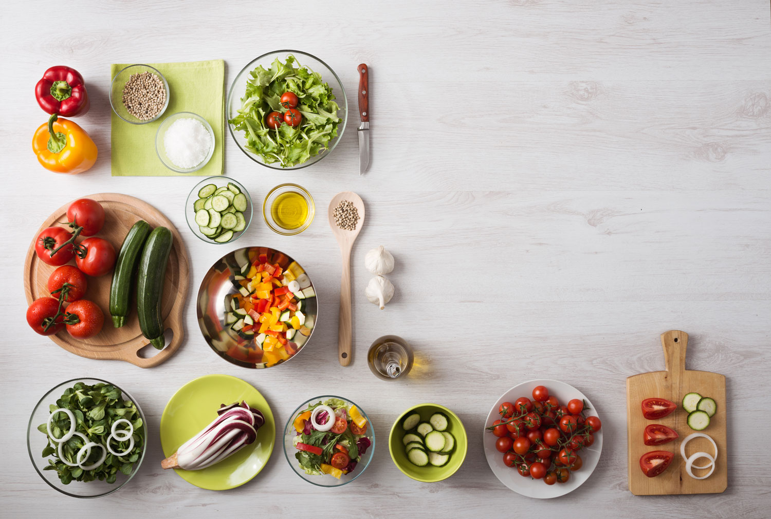
[[[129,315],[131,281],[147,234],[150,234],[150,224],[140,220],[129,229],[129,234],[126,234],[123,245],[120,246],[113,272],[113,284],[109,288],[109,315],[113,316],[113,325],[116,328],[125,325]]]

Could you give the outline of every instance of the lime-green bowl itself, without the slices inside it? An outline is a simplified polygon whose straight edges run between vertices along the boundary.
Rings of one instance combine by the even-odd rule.
[[[404,443],[402,438],[406,434],[406,430],[402,428],[402,420],[407,416],[407,413],[417,412],[420,413],[421,421],[428,421],[429,417],[440,411],[445,413],[449,417],[449,426],[447,432],[455,436],[455,450],[449,457],[449,461],[444,467],[432,467],[428,465],[426,467],[417,467],[407,460],[407,454],[404,451]],[[433,483],[435,481],[446,480],[448,477],[455,474],[456,470],[460,469],[463,465],[463,460],[466,459],[466,450],[468,449],[468,440],[466,439],[466,429],[463,427],[463,422],[460,421],[458,415],[447,409],[445,406],[439,406],[436,403],[420,403],[417,406],[412,406],[406,409],[396,422],[391,427],[391,433],[388,437],[388,448],[391,453],[391,459],[396,467],[399,468],[404,474],[412,477],[413,480],[423,481],[424,483]]]

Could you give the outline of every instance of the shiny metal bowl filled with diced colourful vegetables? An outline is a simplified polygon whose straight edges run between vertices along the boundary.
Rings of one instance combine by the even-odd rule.
[[[198,289],[200,331],[218,356],[244,368],[271,368],[308,345],[318,321],[310,275],[268,247],[236,249],[217,260]]]

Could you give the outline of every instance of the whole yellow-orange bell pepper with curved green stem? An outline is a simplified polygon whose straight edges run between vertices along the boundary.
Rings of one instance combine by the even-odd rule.
[[[52,114],[32,136],[32,151],[46,170],[78,174],[96,163],[96,144],[86,130],[70,120]]]

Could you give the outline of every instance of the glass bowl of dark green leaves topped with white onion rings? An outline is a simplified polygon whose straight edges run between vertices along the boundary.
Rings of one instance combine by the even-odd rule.
[[[27,452],[50,487],[71,497],[102,497],[139,471],[147,450],[145,423],[136,400],[115,384],[67,380],[32,410]]]

